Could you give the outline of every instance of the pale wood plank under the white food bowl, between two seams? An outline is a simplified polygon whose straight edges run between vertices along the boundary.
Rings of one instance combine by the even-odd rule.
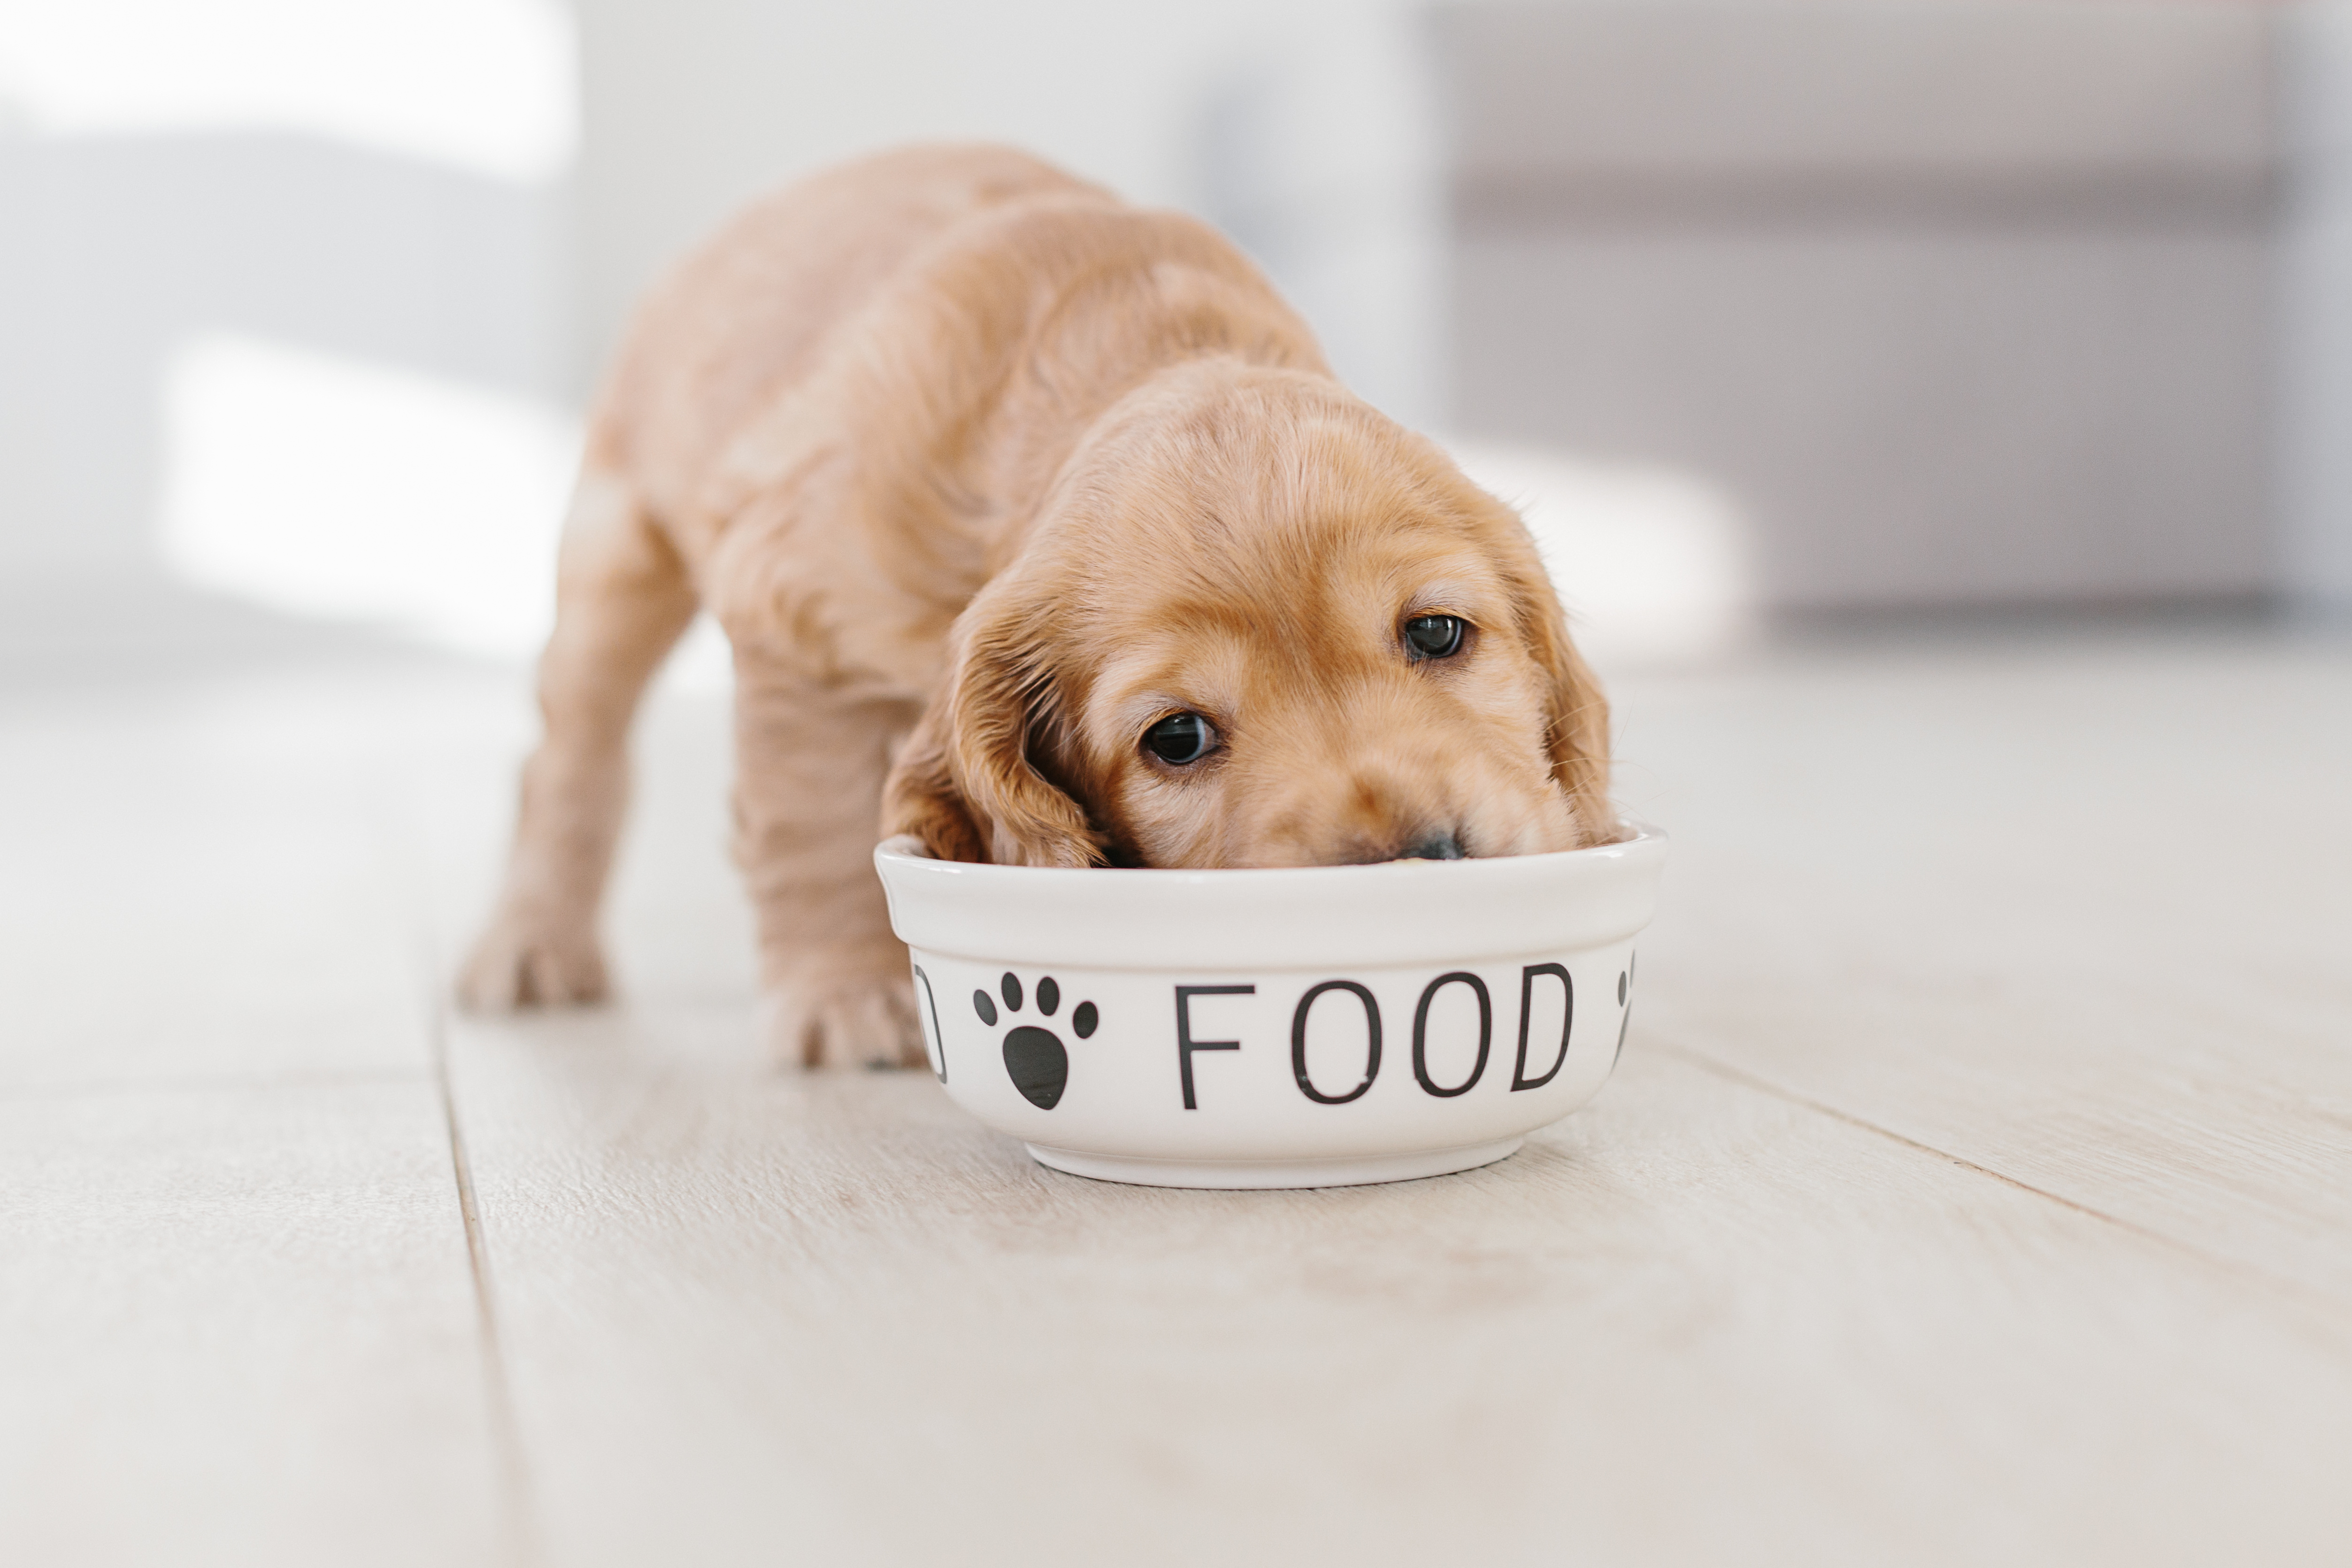
[[[2319,1563],[2352,1333],[1649,1056],[1501,1166],[1030,1166],[743,1009],[454,1039],[550,1556]]]

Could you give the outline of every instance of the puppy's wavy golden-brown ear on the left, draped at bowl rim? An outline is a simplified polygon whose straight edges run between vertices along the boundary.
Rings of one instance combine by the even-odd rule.
[[[1101,865],[1103,835],[1040,771],[1063,724],[1044,616],[1000,578],[955,623],[948,679],[882,788],[882,835],[941,860]]]

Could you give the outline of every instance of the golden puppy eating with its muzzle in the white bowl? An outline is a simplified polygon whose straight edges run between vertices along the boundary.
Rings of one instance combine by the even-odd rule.
[[[1519,520],[1218,233],[1011,150],[816,176],[644,303],[468,1004],[604,994],[630,712],[696,607],[734,646],[767,1027],[807,1065],[922,1060],[877,830],[1004,865],[1611,832],[1606,705]]]

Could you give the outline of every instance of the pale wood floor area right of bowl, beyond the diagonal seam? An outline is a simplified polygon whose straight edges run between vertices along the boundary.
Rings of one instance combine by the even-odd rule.
[[[2352,658],[2249,637],[1621,689],[1642,1023],[2352,1300]]]

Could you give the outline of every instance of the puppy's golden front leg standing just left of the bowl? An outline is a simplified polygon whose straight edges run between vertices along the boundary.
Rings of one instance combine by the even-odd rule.
[[[891,743],[915,705],[736,654],[736,863],[760,917],[764,1030],[809,1067],[922,1063],[875,877]]]

